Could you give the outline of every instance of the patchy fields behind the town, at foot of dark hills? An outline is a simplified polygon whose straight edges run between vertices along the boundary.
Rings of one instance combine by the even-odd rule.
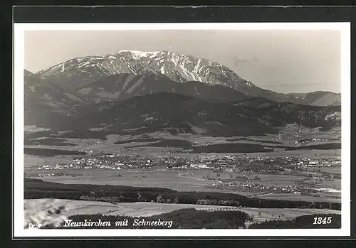
[[[221,145],[221,144],[246,144],[246,146],[256,145],[256,146],[310,146],[310,145],[320,145],[320,144],[330,144],[337,143],[341,141],[341,131],[340,128],[331,129],[329,131],[318,131],[318,129],[305,128],[303,126],[298,126],[295,124],[288,124],[287,126],[281,128],[279,134],[268,134],[266,136],[248,136],[248,137],[214,137],[204,136],[200,134],[177,134],[172,135],[164,131],[157,131],[150,133],[150,139],[154,141],[159,141],[159,139],[175,139],[178,141],[184,141],[187,144],[192,144],[194,146],[206,146],[206,145]],[[84,151],[88,153],[96,152],[117,152],[120,151],[122,154],[139,154],[141,156],[161,155],[167,151],[182,152],[182,144],[178,147],[174,145],[170,147],[155,147],[150,146],[149,141],[142,139],[142,135],[119,135],[119,134],[109,134],[106,139],[75,139],[64,134],[51,134],[46,136],[41,136],[38,134],[33,135],[31,142],[26,147],[42,149],[63,149],[68,151]],[[64,135],[64,136],[61,136]],[[56,140],[57,139],[57,140]],[[41,140],[51,140],[51,144]],[[117,143],[119,144],[115,144]],[[132,141],[132,142],[130,142]],[[63,145],[58,146],[57,144],[73,144],[73,146]],[[33,144],[33,145],[31,145]],[[36,144],[36,145],[34,145]],[[163,144],[163,143],[162,143]],[[76,146],[75,146],[76,145]],[[184,146],[185,147],[185,146]],[[275,151],[268,153],[262,152],[253,153],[258,156],[298,156],[298,154],[303,156],[340,156],[340,149],[329,149],[329,150],[300,150],[300,151],[284,151],[282,148],[275,148]],[[257,150],[256,150],[257,151]],[[204,151],[201,151],[204,152]]]

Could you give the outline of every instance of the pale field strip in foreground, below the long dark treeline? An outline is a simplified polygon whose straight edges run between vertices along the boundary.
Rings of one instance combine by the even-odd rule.
[[[27,206],[42,206],[43,203],[55,203],[56,205],[66,205],[68,212],[66,215],[126,215],[132,217],[147,217],[159,215],[174,210],[194,208],[196,210],[240,210],[253,217],[254,222],[265,220],[292,220],[301,215],[313,214],[340,214],[341,211],[328,209],[298,209],[298,208],[254,208],[254,207],[224,207],[213,205],[193,205],[193,204],[169,204],[169,203],[103,203],[85,200],[61,200],[61,199],[29,199],[25,200]]]

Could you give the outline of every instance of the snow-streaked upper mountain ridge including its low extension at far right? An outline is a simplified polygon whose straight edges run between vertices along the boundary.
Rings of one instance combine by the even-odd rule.
[[[90,82],[118,74],[166,76],[176,82],[204,82],[207,85],[222,85],[239,91],[249,97],[264,97],[276,102],[295,104],[340,104],[340,94],[333,92],[278,93],[261,87],[239,77],[233,70],[192,55],[182,55],[167,50],[142,52],[120,50],[112,55],[86,56],[58,63],[51,68],[37,72],[41,78],[50,77],[63,89],[75,92]],[[318,102],[318,98],[323,101]],[[329,100],[330,99],[330,100]]]

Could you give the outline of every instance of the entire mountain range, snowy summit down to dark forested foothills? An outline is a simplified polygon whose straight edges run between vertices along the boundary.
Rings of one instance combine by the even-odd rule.
[[[169,51],[122,50],[25,70],[24,87],[25,124],[56,129],[195,127],[229,136],[289,122],[340,125],[340,94],[264,90],[220,63]]]

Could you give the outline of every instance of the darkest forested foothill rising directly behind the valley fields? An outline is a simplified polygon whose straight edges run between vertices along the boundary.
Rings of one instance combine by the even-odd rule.
[[[109,132],[122,129],[172,130],[194,133],[194,128],[211,136],[275,134],[278,126],[297,123],[329,129],[340,126],[340,106],[317,107],[249,98],[236,104],[208,102],[173,93],[156,93],[111,102],[98,111],[93,104],[86,114],[63,129],[101,127]],[[90,112],[90,108],[95,110]]]

